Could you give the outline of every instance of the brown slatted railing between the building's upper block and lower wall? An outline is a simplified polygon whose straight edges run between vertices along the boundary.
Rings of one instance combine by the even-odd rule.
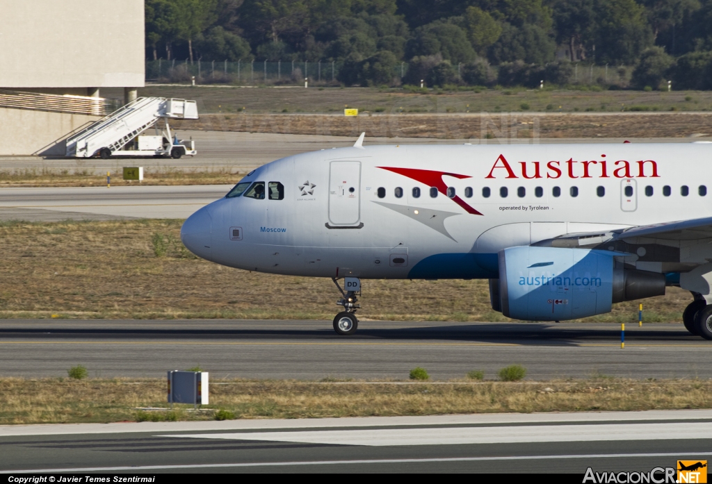
[[[41,94],[0,90],[0,107],[105,116],[121,105],[120,100],[103,97]]]

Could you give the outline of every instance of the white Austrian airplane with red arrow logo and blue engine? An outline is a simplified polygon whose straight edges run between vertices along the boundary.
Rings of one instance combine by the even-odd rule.
[[[608,313],[679,286],[692,294],[685,328],[712,340],[707,144],[364,136],[251,171],[184,222],[182,242],[229,267],[331,278],[339,335],[357,330],[362,281],[488,279],[492,308],[524,321]]]

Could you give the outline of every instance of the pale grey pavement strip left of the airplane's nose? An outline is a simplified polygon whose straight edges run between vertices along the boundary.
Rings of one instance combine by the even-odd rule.
[[[3,188],[0,220],[187,218],[231,185]]]

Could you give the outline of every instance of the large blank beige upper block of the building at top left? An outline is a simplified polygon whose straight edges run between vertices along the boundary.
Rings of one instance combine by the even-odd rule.
[[[4,1],[2,24],[0,88],[144,85],[143,0]]]

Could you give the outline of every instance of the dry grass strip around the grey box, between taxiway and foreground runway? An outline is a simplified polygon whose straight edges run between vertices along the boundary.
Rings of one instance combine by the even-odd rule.
[[[168,407],[165,381],[0,379],[0,424],[204,420],[213,412],[142,412]],[[303,382],[219,380],[211,383],[211,409],[235,418],[323,418],[581,412],[712,407],[712,381],[639,382],[607,377],[552,382]]]

